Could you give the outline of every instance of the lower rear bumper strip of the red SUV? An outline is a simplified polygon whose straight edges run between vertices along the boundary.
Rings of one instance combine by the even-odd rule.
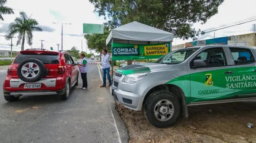
[[[17,92],[9,92],[3,91],[3,95],[5,96],[37,96],[37,95],[54,95],[54,94],[64,94],[65,89],[59,91],[49,91],[49,90],[40,90],[40,91],[17,91]]]

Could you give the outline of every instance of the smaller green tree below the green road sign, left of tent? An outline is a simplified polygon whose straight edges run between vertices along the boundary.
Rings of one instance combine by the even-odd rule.
[[[95,50],[96,52],[102,54],[102,50],[106,49],[106,39],[110,31],[108,27],[104,27],[104,34],[86,34],[85,39],[87,41],[87,46],[90,50]],[[101,56],[100,56],[101,61]]]

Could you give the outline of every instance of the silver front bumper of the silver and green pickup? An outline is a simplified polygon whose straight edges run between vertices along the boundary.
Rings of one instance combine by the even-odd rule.
[[[144,97],[132,92],[114,88],[113,86],[111,86],[110,90],[113,98],[123,104],[126,108],[135,111],[141,110]]]

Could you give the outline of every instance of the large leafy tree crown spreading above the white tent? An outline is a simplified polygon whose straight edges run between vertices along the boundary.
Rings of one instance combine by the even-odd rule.
[[[204,34],[192,28],[193,23],[205,24],[218,13],[224,0],[89,0],[99,16],[108,17],[115,28],[137,21],[174,34],[176,38],[197,39]]]

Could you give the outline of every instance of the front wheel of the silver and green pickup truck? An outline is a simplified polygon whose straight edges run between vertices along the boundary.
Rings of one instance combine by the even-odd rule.
[[[149,95],[144,114],[147,121],[158,128],[172,126],[180,114],[180,102],[171,92],[158,90]]]

